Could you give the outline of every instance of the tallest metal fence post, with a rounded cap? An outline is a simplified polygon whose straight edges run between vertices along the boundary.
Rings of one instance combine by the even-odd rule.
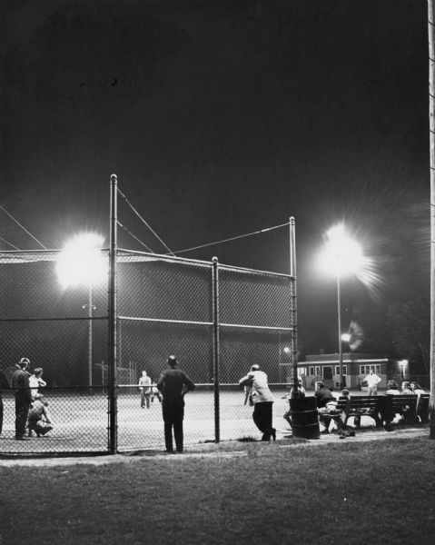
[[[116,310],[116,260],[117,260],[117,195],[118,181],[110,177],[110,248],[109,248],[109,342],[108,342],[108,392],[109,392],[109,451],[116,454],[117,437],[117,310]]]

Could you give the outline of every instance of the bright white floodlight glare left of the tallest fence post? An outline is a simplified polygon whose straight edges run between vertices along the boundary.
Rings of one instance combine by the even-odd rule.
[[[95,233],[81,233],[66,244],[57,260],[56,272],[64,286],[92,286],[107,277],[107,261],[100,248],[104,238]]]

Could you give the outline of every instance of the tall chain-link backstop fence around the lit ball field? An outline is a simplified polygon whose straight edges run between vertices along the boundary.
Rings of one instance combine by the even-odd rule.
[[[268,374],[282,421],[296,346],[291,275],[117,250],[111,379],[109,284],[63,288],[59,254],[0,253],[0,371],[10,386],[21,357],[31,372],[43,368],[54,422],[44,437],[15,441],[14,391],[5,387],[0,455],[107,453],[114,425],[116,451],[163,449],[160,401],[151,396],[142,408],[138,380],[146,371],[156,381],[169,354],[196,384],[186,396],[186,445],[256,435],[238,386],[253,363]]]

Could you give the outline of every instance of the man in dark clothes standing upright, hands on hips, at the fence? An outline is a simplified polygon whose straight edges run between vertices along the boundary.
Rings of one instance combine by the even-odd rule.
[[[160,375],[157,388],[163,394],[164,445],[173,454],[173,437],[177,452],[183,452],[184,394],[194,389],[193,381],[177,369],[175,356],[168,358],[169,369]]]

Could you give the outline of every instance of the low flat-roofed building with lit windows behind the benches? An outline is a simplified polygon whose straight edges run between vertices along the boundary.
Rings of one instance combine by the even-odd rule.
[[[408,377],[409,369],[406,360],[391,360],[374,354],[343,353],[343,381],[347,388],[364,388],[362,381],[372,370],[381,377],[379,388],[387,388],[391,378],[403,380]],[[306,356],[305,362],[298,363],[299,374],[304,387],[313,389],[316,381],[323,381],[330,388],[340,388],[339,354],[314,354]]]

